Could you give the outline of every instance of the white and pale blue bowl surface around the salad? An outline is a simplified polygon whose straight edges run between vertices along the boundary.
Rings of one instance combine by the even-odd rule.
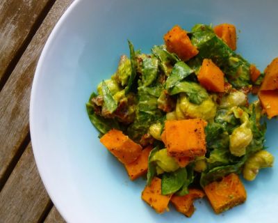
[[[248,199],[222,215],[195,202],[190,219],[158,215],[141,199],[144,179],[131,182],[99,143],[85,110],[90,93],[110,77],[127,39],[149,52],[174,24],[232,23],[238,52],[263,70],[278,52],[278,1],[75,1],[44,47],[31,95],[31,138],[44,185],[67,222],[275,222],[278,167],[245,182]],[[276,157],[278,121],[268,121],[266,145]],[[276,138],[275,138],[276,137]],[[259,215],[257,214],[259,213]]]

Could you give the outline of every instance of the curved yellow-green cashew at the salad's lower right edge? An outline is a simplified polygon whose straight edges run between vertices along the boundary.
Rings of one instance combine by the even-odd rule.
[[[259,151],[249,157],[243,167],[243,177],[245,180],[254,180],[259,173],[259,169],[272,167],[274,157],[268,151]]]

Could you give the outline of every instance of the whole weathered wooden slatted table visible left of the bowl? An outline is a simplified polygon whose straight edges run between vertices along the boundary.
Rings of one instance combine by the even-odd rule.
[[[28,118],[40,53],[70,3],[0,1],[0,223],[65,222],[38,174]]]

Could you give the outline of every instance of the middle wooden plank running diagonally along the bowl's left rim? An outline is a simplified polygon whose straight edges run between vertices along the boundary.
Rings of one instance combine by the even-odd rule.
[[[38,1],[41,2],[41,1]],[[57,0],[0,92],[0,190],[28,135],[31,84],[42,47],[72,0]]]

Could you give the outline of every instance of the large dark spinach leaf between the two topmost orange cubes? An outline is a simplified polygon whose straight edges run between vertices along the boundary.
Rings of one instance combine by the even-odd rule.
[[[234,87],[250,85],[250,63],[218,38],[211,26],[197,24],[192,29],[192,35],[191,42],[198,48],[199,54],[188,61],[189,66],[197,69],[203,59],[212,59]]]

